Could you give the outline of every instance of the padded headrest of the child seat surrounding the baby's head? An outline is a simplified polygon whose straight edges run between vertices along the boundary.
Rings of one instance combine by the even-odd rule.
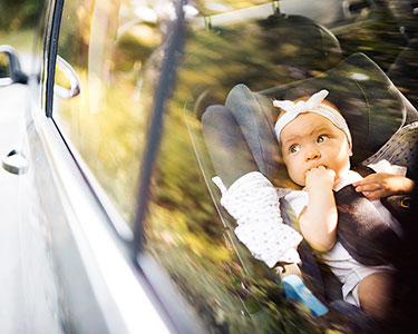
[[[254,156],[260,171],[278,186],[283,180],[283,166],[276,158],[279,146],[273,128],[278,109],[272,100],[294,100],[321,89],[330,91],[328,99],[348,122],[354,165],[376,153],[402,125],[418,119],[417,110],[363,53],[348,57],[317,78],[257,92],[237,85],[227,96],[225,106],[235,115],[250,149],[257,153]],[[256,136],[245,135],[249,131],[256,131]],[[281,180],[278,180],[279,175]]]

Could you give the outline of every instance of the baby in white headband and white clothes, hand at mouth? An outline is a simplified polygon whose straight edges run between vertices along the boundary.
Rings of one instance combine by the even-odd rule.
[[[325,100],[327,96],[328,91],[321,90],[295,101],[273,102],[281,108],[274,129],[283,161],[290,178],[303,187],[285,198],[298,216],[304,239],[342,283],[344,299],[377,318],[385,318],[391,302],[393,269],[390,265],[361,264],[341,245],[337,236],[339,214],[334,191],[352,184],[396,229],[398,222],[378,199],[411,193],[414,181],[397,175],[400,169],[388,168],[389,164],[386,173],[364,178],[350,170],[351,135],[338,108]],[[380,167],[376,165],[376,171]]]

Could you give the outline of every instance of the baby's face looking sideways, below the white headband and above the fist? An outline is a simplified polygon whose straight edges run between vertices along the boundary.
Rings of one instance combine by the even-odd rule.
[[[305,185],[305,173],[311,168],[330,168],[336,180],[350,169],[346,134],[318,114],[299,115],[283,128],[280,141],[288,174],[300,186]]]

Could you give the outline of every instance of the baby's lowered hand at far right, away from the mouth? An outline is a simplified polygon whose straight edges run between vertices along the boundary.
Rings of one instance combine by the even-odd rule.
[[[362,193],[370,200],[396,194],[409,194],[414,189],[411,179],[388,173],[370,174],[352,185],[356,191]]]

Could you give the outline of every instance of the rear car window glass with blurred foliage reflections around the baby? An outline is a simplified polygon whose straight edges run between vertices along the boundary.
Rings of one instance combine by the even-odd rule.
[[[360,163],[378,151],[404,121],[418,119],[400,94],[417,106],[416,91],[398,80],[414,79],[398,65],[402,60],[414,66],[416,53],[399,30],[402,21],[380,1],[262,2],[191,3],[200,13],[188,19],[176,87],[166,105],[144,226],[145,249],[166,269],[208,332],[368,332],[370,323],[361,313],[356,313],[356,320],[347,316],[350,306],[342,302],[341,287],[327,286],[324,295],[320,294],[318,282],[310,279],[312,272],[304,272],[305,283],[330,313],[324,318],[314,317],[304,306],[286,301],[276,272],[255,259],[236,238],[237,223],[221,205],[221,191],[212,177],[223,178],[222,171],[229,176],[241,170],[246,164],[240,158],[242,146],[229,154],[224,153],[227,143],[211,146],[203,134],[202,115],[213,106],[239,106],[237,112],[249,110],[250,118],[261,112],[261,127],[270,126],[273,136],[269,117],[275,119],[278,115],[266,107],[273,98],[284,98],[300,87],[328,85],[328,89],[340,94],[340,102],[353,110],[349,120],[360,127],[353,130],[354,155]],[[239,84],[247,90],[233,99],[231,91]],[[243,100],[250,102],[240,105]],[[361,116],[366,120],[360,120]],[[368,117],[372,122],[368,124]],[[223,126],[221,121],[214,124],[216,129]],[[243,137],[262,132],[252,126],[251,121],[241,125]],[[223,135],[227,140],[230,134]],[[259,139],[257,144],[263,138]],[[247,141],[244,146],[251,146]],[[261,143],[265,149],[263,145],[269,143]],[[232,151],[236,156],[231,156]],[[216,154],[225,159],[215,161]],[[412,163],[396,154],[390,156],[393,163],[414,169]],[[263,173],[270,180],[279,188],[297,188],[286,178],[279,156],[271,160],[279,167],[270,175],[265,167]],[[283,219],[291,223],[291,210],[283,209],[282,215],[288,215]],[[331,306],[333,301],[339,302]]]

